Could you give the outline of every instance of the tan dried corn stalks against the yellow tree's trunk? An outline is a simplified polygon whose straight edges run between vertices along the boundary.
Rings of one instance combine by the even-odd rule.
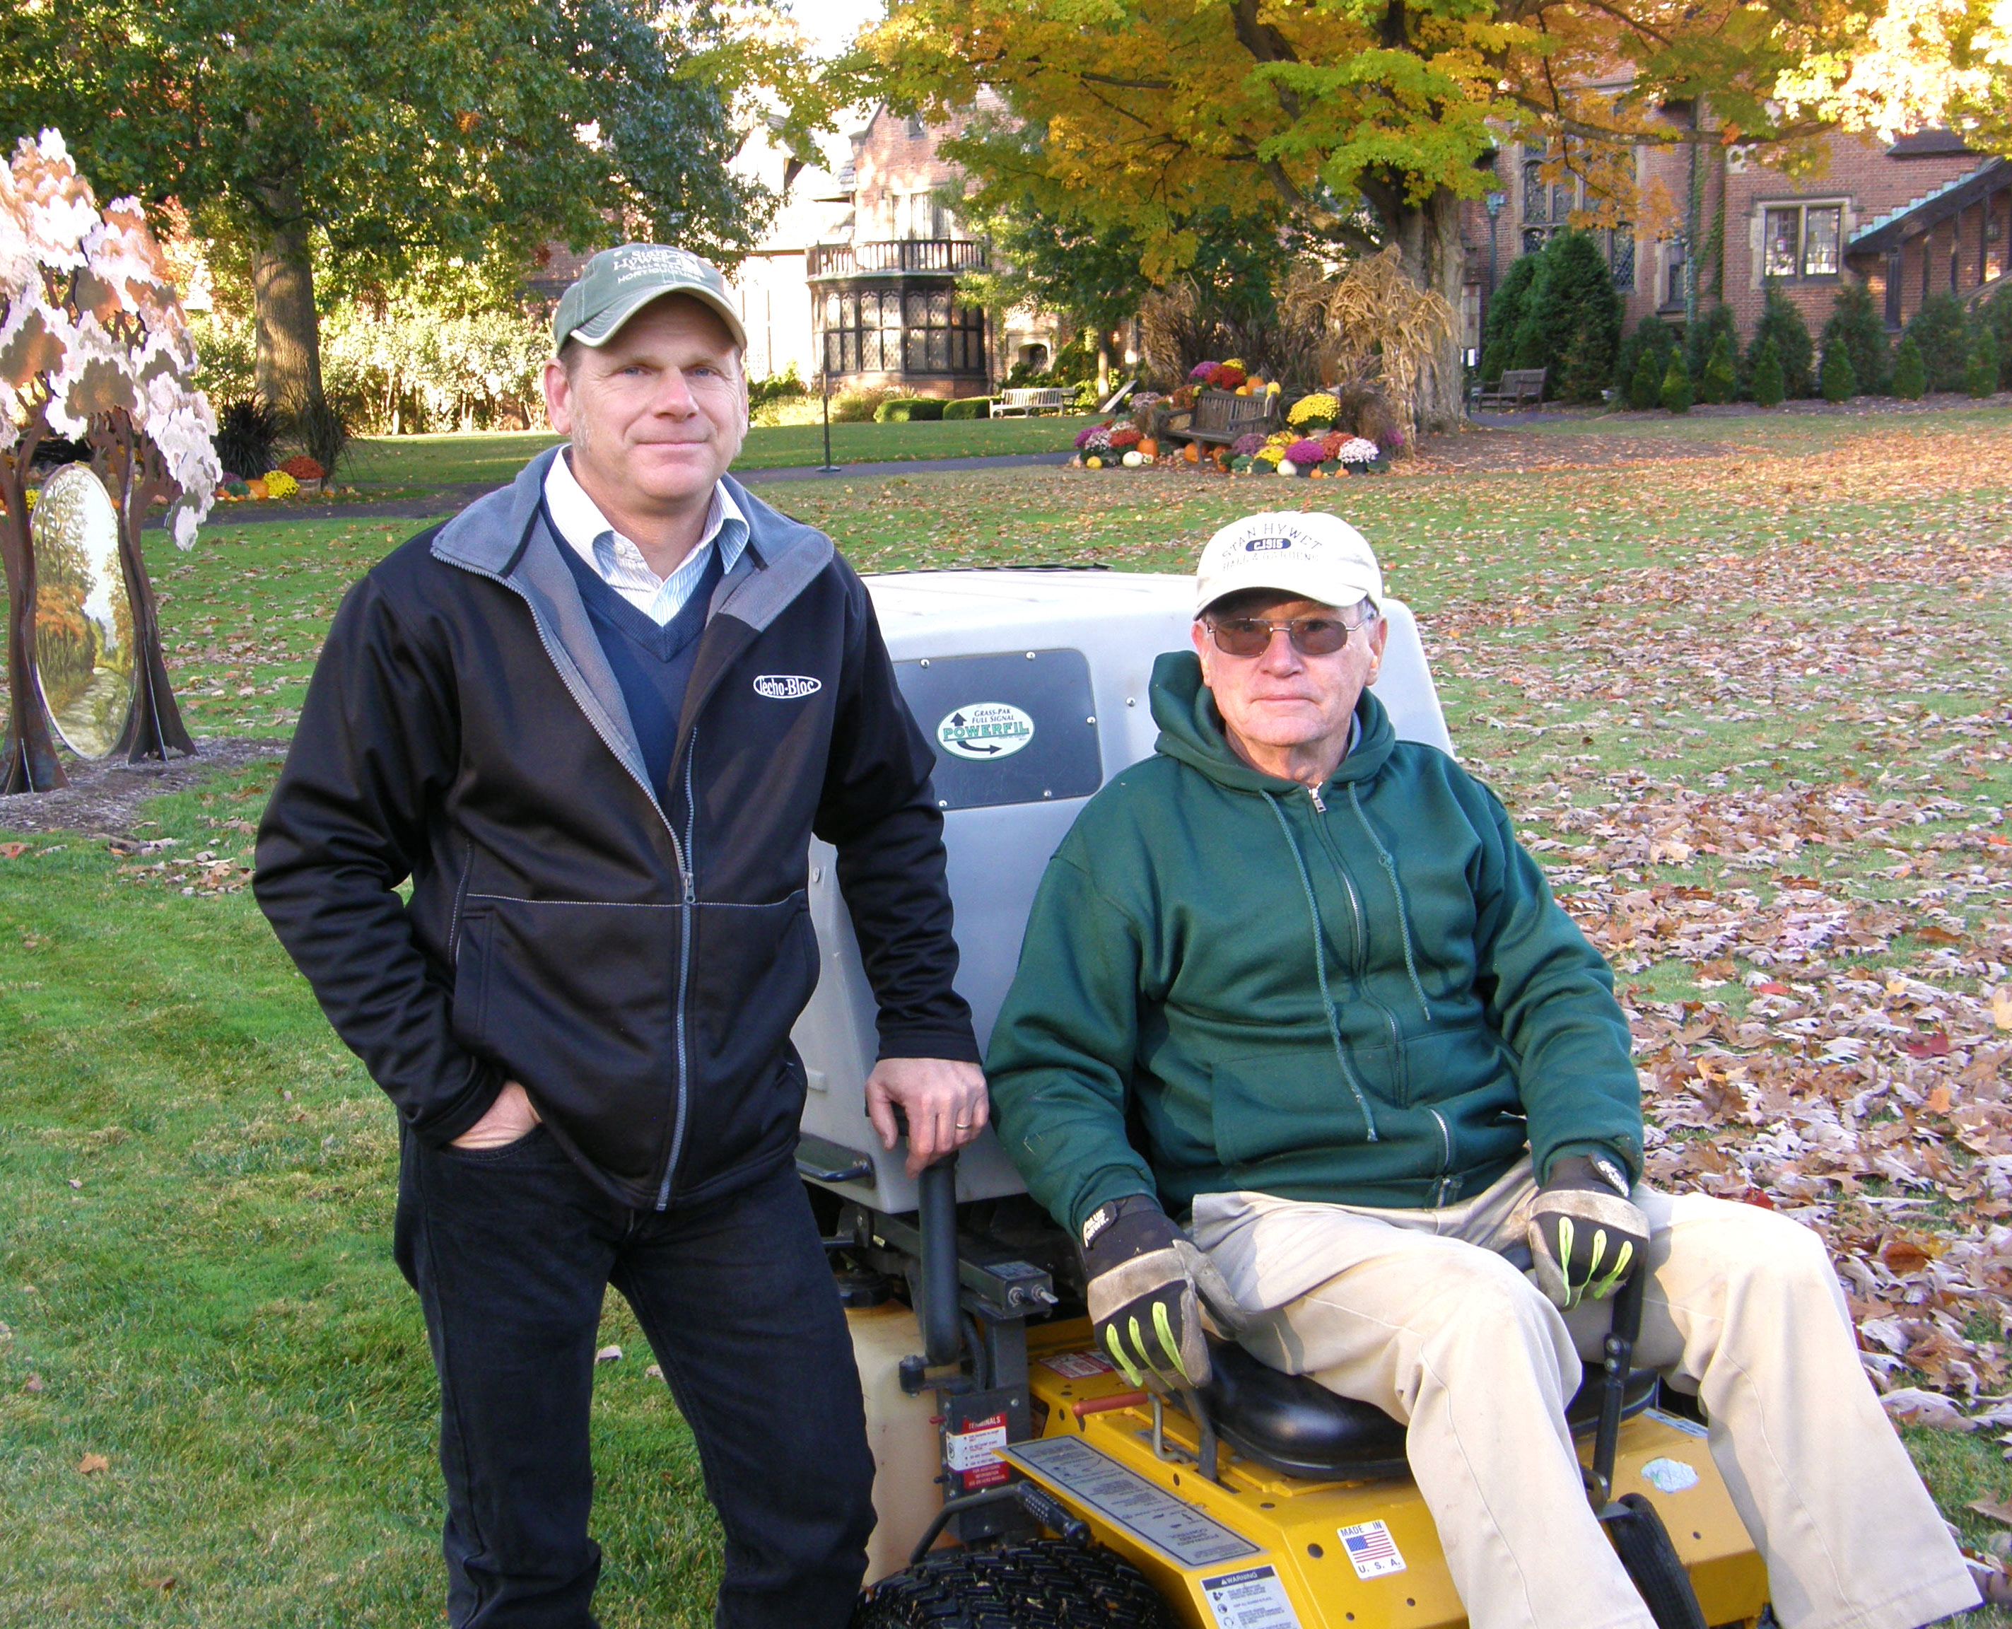
[[[1404,426],[1418,422],[1418,378],[1453,332],[1453,306],[1406,278],[1394,247],[1340,278],[1296,265],[1278,304],[1288,326],[1322,334],[1328,378],[1374,378]]]

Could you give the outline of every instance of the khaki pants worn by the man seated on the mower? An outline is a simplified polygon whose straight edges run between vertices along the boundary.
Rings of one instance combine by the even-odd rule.
[[[1610,1303],[1559,1313],[1527,1259],[1525,1160],[1441,1211],[1195,1201],[1253,1315],[1243,1345],[1408,1426],[1406,1456],[1475,1629],[1654,1629],[1579,1478],[1565,1402]],[[1783,1629],[1913,1629],[1978,1605],[1859,1368],[1823,1243],[1750,1205],[1638,1189],[1652,1279],[1636,1366],[1696,1392]]]

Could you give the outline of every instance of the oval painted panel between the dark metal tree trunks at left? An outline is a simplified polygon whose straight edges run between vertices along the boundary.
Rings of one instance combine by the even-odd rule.
[[[34,541],[34,662],[56,734],[103,758],[133,706],[133,609],[119,569],[119,511],[91,465],[42,485]]]

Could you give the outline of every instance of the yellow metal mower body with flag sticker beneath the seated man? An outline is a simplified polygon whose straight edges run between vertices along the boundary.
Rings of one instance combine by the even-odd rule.
[[[1437,1629],[1465,1625],[1433,1516],[1408,1480],[1310,1482],[1223,1444],[1221,1480],[1195,1472],[1195,1428],[1163,1412],[1153,1452],[1149,1402],[1091,1351],[1088,1323],[1028,1331],[1038,1436],[1006,1456],[1141,1567],[1193,1629]],[[1101,1406],[1101,1408],[1099,1408]],[[1589,1442],[1581,1454],[1589,1454]],[[1664,1492],[1644,1480],[1696,1480]],[[1674,1466],[1674,1468],[1672,1468]],[[1708,1625],[1752,1625],[1767,1575],[1688,1420],[1646,1412],[1622,1428],[1616,1496],[1648,1494],[1690,1571]],[[1290,1607],[1290,1617],[1284,1607]]]

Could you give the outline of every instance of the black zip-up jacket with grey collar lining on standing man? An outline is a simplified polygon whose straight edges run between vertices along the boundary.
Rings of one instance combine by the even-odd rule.
[[[350,589],[254,889],[414,1136],[451,1142],[519,1080],[610,1195],[662,1209],[793,1156],[813,833],[837,845],[881,1056],[978,1046],[934,760],[859,577],[728,481],[748,547],[652,792],[545,515],[551,457]]]

